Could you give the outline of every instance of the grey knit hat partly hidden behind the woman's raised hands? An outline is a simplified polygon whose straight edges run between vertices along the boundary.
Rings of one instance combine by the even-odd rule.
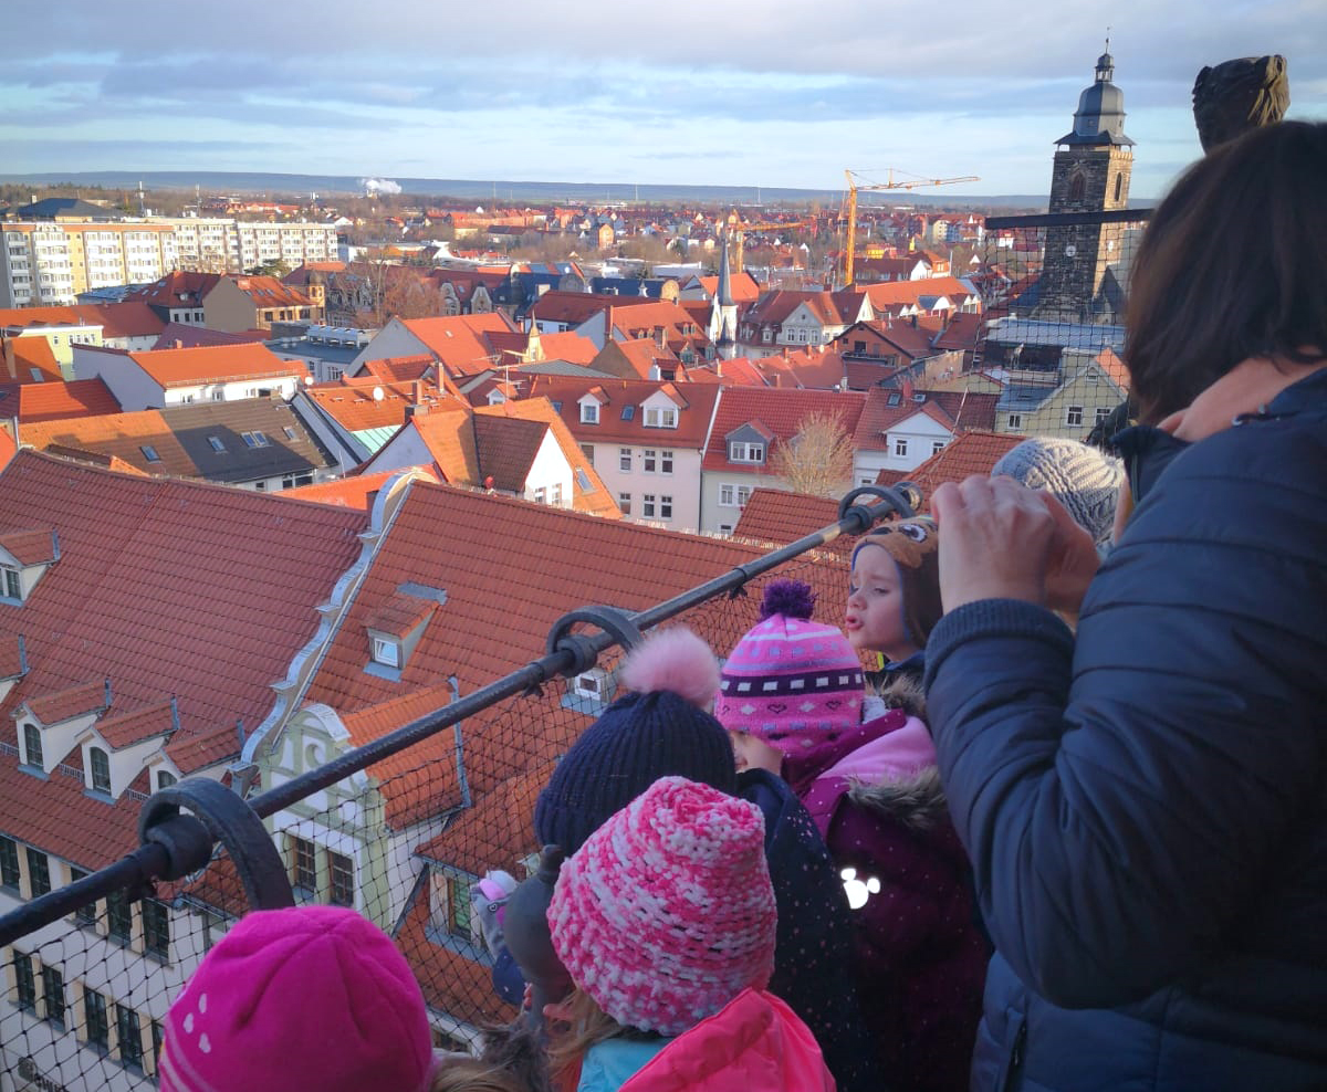
[[[1111,537],[1124,463],[1076,439],[1032,437],[991,467],[1060,502],[1095,543]]]

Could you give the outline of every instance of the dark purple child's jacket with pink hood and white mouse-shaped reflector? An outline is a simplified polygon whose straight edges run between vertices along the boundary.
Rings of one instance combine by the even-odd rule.
[[[845,880],[857,994],[890,1088],[962,1092],[990,949],[926,726],[893,709],[783,774]],[[864,901],[863,901],[863,897]]]

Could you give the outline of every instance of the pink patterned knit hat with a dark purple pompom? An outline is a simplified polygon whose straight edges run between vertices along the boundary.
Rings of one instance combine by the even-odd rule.
[[[836,626],[811,621],[815,596],[796,580],[764,589],[760,621],[723,665],[714,715],[795,755],[861,726],[861,661]]]

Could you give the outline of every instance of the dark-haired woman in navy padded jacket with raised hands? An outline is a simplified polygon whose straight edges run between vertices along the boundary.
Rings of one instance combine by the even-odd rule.
[[[1327,1087],[1323,178],[1327,125],[1282,122],[1157,208],[1100,572],[1009,479],[933,499],[928,706],[997,946],[977,1089]]]

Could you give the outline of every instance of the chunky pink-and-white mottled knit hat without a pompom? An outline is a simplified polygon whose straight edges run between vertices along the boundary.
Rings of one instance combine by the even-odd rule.
[[[572,979],[620,1024],[679,1035],[774,973],[760,808],[661,778],[563,865],[548,906]]]

